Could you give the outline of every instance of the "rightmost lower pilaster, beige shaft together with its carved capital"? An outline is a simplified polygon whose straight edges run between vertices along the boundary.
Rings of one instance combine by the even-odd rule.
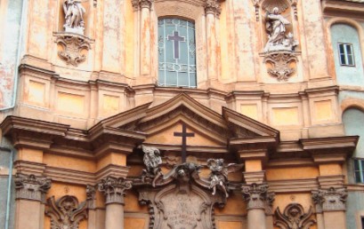
[[[312,200],[316,204],[319,229],[345,229],[346,188],[319,189],[312,191]]]

